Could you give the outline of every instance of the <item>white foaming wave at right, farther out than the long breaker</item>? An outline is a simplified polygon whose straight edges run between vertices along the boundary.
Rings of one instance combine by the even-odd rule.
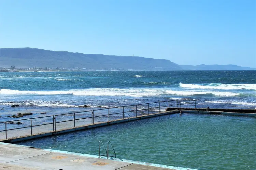
[[[197,85],[197,84],[183,84],[180,83],[180,87],[183,88],[196,88],[196,89],[246,89],[256,90],[256,84],[221,84],[211,83],[208,85]]]

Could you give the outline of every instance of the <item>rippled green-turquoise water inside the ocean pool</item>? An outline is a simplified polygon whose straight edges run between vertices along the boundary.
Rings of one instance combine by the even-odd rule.
[[[98,155],[99,140],[110,140],[123,159],[195,169],[256,169],[253,117],[165,115],[17,144]]]

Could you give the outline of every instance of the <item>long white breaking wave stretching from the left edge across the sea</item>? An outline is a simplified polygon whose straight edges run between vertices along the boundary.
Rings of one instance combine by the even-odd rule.
[[[174,91],[166,88],[88,88],[67,91],[20,91],[1,89],[0,95],[76,95],[76,96],[159,96],[159,95],[215,95],[215,96],[238,96],[240,93],[222,91]]]

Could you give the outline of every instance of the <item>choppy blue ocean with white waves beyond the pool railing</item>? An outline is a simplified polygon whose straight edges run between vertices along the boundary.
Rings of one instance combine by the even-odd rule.
[[[56,114],[84,110],[81,105],[113,107],[172,99],[197,99],[201,108],[254,109],[255,98],[256,71],[0,72],[0,115]]]

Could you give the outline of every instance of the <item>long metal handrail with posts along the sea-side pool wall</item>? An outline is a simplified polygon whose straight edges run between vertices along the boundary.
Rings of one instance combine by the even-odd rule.
[[[171,104],[170,105],[170,102],[172,101],[176,101],[176,104]],[[137,112],[138,111],[146,111],[147,110],[147,114],[152,114],[152,113],[149,113],[150,109],[156,109],[158,108],[158,112],[160,113],[160,108],[162,107],[170,107],[170,106],[176,106],[176,108],[178,109],[178,101],[179,101],[179,105],[180,105],[180,108],[181,108],[181,105],[188,105],[188,106],[195,106],[195,109],[196,109],[196,100],[195,99],[176,99],[176,100],[167,100],[167,101],[158,101],[158,102],[151,102],[151,103],[142,103],[142,104],[134,104],[134,105],[126,105],[126,106],[117,106],[117,107],[109,107],[109,108],[102,108],[102,109],[95,109],[95,110],[89,110],[89,111],[82,111],[82,112],[73,112],[73,113],[65,113],[65,114],[58,114],[58,115],[51,115],[51,116],[42,116],[42,117],[34,117],[34,118],[27,118],[27,119],[18,119],[18,120],[10,120],[10,121],[4,121],[4,122],[0,122],[0,123],[5,123],[5,130],[1,130],[0,132],[4,132],[5,131],[5,138],[7,139],[7,131],[10,131],[10,130],[16,130],[16,129],[23,129],[23,128],[30,128],[30,131],[31,131],[31,135],[32,135],[32,127],[35,127],[35,126],[42,126],[42,125],[48,125],[48,124],[53,124],[53,131],[56,131],[56,123],[62,123],[62,122],[68,122],[68,121],[74,121],[74,127],[75,126],[75,121],[76,120],[82,120],[82,119],[90,119],[91,118],[91,124],[94,124],[94,118],[96,117],[103,117],[103,116],[108,116],[109,117],[109,120],[110,120],[110,115],[116,115],[116,114],[123,114],[123,119],[125,118],[125,113],[128,113],[128,112],[136,112],[136,117],[137,117]],[[184,103],[182,101],[195,101],[195,104],[193,105],[192,103]],[[160,106],[160,103],[163,103],[163,102],[168,102],[168,105],[165,105],[165,106]],[[154,104],[154,103],[159,103],[157,107],[150,107],[150,104]],[[142,108],[142,109],[138,109],[138,106],[141,106],[141,105],[147,105],[146,108]],[[130,111],[125,111],[125,107],[130,107],[130,106],[133,106],[135,107],[136,106],[136,110],[134,110],[134,108]],[[118,112],[118,113],[110,113],[110,109],[114,109],[114,108],[123,108],[123,112]],[[256,108],[255,108],[256,109]],[[108,110],[108,114],[104,114],[104,115],[99,115],[99,116],[94,116],[94,112],[95,111],[102,111],[102,110]],[[86,117],[86,118],[76,118],[75,117],[75,114],[76,113],[86,113],[86,112],[91,112],[91,117]],[[157,112],[157,111],[155,111]],[[73,119],[69,119],[69,120],[64,120],[64,121],[56,121],[56,116],[62,116],[62,115],[70,115],[72,114],[73,115]],[[40,118],[47,118],[47,117],[53,117],[53,121],[52,123],[45,123],[45,124],[38,124],[38,125],[32,125],[32,119],[40,119]],[[23,121],[23,120],[30,120],[30,126],[25,126],[25,127],[22,127],[22,128],[14,128],[14,129],[7,129],[7,123],[9,122],[13,122],[13,121]]]

